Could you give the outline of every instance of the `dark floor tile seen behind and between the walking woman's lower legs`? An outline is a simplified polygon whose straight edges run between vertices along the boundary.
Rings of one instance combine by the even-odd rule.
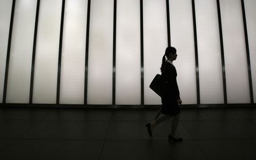
[[[110,124],[107,140],[151,140],[145,125],[146,123],[141,121],[114,121]],[[164,121],[154,128],[152,139],[168,140],[170,132],[171,121]],[[181,123],[177,127],[177,134],[183,138],[191,139]]]

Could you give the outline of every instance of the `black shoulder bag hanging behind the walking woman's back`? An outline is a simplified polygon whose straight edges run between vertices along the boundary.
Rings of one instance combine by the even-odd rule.
[[[167,82],[161,77],[160,74],[156,74],[153,81],[150,83],[150,89],[152,89],[159,96],[163,96],[164,88],[166,87]]]

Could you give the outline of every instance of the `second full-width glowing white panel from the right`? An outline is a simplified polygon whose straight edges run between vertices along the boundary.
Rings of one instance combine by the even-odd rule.
[[[195,1],[200,103],[224,103],[216,0]]]

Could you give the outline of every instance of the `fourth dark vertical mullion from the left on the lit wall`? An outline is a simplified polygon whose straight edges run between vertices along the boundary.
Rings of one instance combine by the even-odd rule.
[[[90,32],[90,0],[88,0],[88,5],[87,5],[87,22],[86,22],[84,104],[87,104],[89,32]]]

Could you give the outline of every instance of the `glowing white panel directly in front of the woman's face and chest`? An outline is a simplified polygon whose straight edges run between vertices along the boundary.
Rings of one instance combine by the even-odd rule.
[[[196,104],[196,62],[191,0],[170,1],[171,46],[177,50],[174,65],[183,104]]]

